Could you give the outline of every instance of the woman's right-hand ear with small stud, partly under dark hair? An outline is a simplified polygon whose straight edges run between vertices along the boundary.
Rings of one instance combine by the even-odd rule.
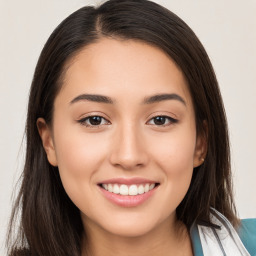
[[[194,152],[194,168],[204,163],[207,154],[207,124],[204,122],[204,131],[197,135]]]

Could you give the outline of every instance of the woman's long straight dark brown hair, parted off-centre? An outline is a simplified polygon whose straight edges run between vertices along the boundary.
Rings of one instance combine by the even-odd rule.
[[[81,254],[84,230],[79,209],[67,196],[58,168],[47,161],[36,121],[43,117],[51,124],[65,64],[102,37],[154,45],[176,62],[187,79],[197,132],[207,137],[208,151],[204,164],[194,169],[189,190],[177,208],[177,218],[190,228],[194,221],[210,221],[210,208],[214,207],[237,223],[225,111],[204,47],[193,31],[164,7],[147,0],[110,0],[97,8],[81,8],[66,18],[51,34],[39,57],[30,90],[26,159],[11,218],[9,255]],[[20,227],[13,240],[11,231],[19,210]]]

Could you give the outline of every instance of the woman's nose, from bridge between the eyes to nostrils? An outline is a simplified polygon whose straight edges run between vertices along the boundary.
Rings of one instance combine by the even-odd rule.
[[[142,134],[133,126],[126,126],[115,133],[110,162],[124,170],[134,170],[148,163],[148,154]]]

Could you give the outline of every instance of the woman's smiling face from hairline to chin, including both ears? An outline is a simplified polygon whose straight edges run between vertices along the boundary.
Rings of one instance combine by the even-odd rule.
[[[38,127],[85,227],[119,236],[169,228],[204,154],[181,70],[133,40],[101,39],[73,58],[52,129]]]

